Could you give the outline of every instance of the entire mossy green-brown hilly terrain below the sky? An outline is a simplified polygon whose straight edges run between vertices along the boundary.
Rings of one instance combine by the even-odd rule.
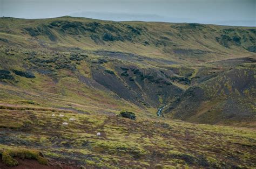
[[[255,32],[0,18],[0,168],[256,167]]]

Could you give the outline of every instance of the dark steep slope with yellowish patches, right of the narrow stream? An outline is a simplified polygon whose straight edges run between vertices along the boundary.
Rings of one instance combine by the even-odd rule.
[[[197,85],[169,103],[166,114],[196,123],[255,127],[255,62],[254,57],[211,63],[214,72],[198,73]],[[217,73],[221,66],[230,68]]]

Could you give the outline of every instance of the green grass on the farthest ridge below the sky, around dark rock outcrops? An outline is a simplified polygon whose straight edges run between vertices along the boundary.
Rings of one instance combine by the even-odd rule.
[[[51,42],[48,38],[47,34],[42,34],[38,37],[45,41],[46,46],[51,46],[54,48],[71,48],[71,47],[80,47],[82,50],[109,50],[111,51],[123,51],[123,52],[130,52],[130,53],[137,53],[141,55],[146,55],[149,58],[160,58],[160,59],[167,59],[169,60],[170,55],[169,53],[177,48],[181,49],[200,49],[203,51],[210,51],[210,53],[203,53],[196,55],[192,54],[183,55],[183,59],[181,60],[179,54],[173,53],[171,55],[172,61],[178,62],[186,62],[185,60],[189,61],[196,61],[201,62],[202,60],[218,60],[219,58],[227,58],[227,57],[240,57],[240,55],[252,55],[252,53],[244,50],[250,45],[253,45],[253,41],[248,39],[243,39],[242,37],[240,46],[235,46],[234,44],[230,44],[231,47],[227,48],[221,46],[217,41],[208,40],[208,39],[215,39],[216,37],[220,37],[221,34],[225,32],[227,29],[239,29],[239,31],[235,30],[231,33],[228,33],[228,36],[235,36],[236,33],[239,32],[240,36],[245,35],[254,36],[253,32],[250,29],[253,27],[232,27],[232,26],[216,26],[216,25],[203,25],[199,29],[186,29],[189,27],[189,24],[170,24],[170,23],[139,23],[139,22],[107,22],[103,20],[92,20],[92,19],[85,19],[85,18],[74,18],[74,17],[60,17],[60,18],[51,18],[51,19],[38,19],[38,20],[26,20],[26,19],[16,19],[16,18],[1,18],[0,23],[4,25],[1,33],[1,37],[5,39],[9,39],[10,41],[15,41],[16,44],[25,44],[26,48],[36,47],[41,50],[41,46],[39,42],[35,39],[30,39],[28,33],[21,34],[22,30],[25,27],[38,27],[38,26],[48,26],[53,21],[63,22],[69,20],[70,22],[81,22],[83,24],[90,24],[92,22],[97,22],[102,26],[98,26],[99,28],[96,29],[96,33],[87,32],[87,34],[70,34],[70,30],[66,30],[65,34],[63,34],[61,29],[47,29],[51,31],[56,37],[57,41]],[[142,29],[140,36],[131,37],[132,40],[125,40],[125,41],[104,41],[104,44],[96,44],[91,38],[91,34],[97,34],[99,37],[102,37],[103,33],[106,31],[104,26],[109,24],[113,28],[119,29],[117,32],[111,32],[113,34],[120,34],[120,36],[127,36],[124,32],[129,32],[127,26],[137,27]],[[5,33],[8,31],[9,27],[12,27],[11,33]],[[184,29],[185,28],[185,29]],[[170,33],[171,32],[171,33]],[[189,32],[189,33],[188,33]],[[207,38],[204,38],[207,37]],[[171,39],[171,40],[170,40]],[[184,41],[186,39],[186,41]],[[145,41],[149,41],[150,45],[144,45]],[[204,45],[202,45],[204,44]],[[177,47],[178,46],[178,47]],[[212,52],[214,51],[214,52]],[[219,51],[219,52],[217,52]],[[212,52],[212,53],[211,53]],[[225,53],[225,54],[223,54]],[[200,56],[200,57],[198,57]],[[184,60],[185,59],[185,60]],[[156,65],[153,63],[152,65]]]

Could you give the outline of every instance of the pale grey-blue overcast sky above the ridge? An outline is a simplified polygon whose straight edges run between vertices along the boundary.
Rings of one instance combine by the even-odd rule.
[[[256,26],[256,0],[0,0],[0,16]]]

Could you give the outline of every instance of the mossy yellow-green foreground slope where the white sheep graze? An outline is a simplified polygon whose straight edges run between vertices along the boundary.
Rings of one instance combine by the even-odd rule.
[[[252,129],[17,105],[0,116],[1,153],[38,150],[56,167],[256,167]]]

